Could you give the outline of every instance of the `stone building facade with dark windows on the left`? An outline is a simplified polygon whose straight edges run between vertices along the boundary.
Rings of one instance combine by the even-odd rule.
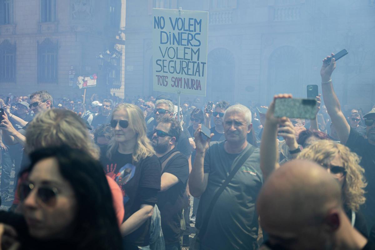
[[[88,93],[110,91],[96,57],[114,44],[124,52],[121,6],[125,13],[124,0],[0,0],[0,92],[26,95],[45,89],[70,97],[82,92],[71,86],[77,76],[93,73],[98,87]],[[118,62],[113,91],[123,95],[124,53]]]

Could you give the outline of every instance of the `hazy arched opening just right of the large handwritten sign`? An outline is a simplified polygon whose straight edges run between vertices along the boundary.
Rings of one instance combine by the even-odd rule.
[[[217,48],[208,53],[207,100],[233,102],[235,69],[234,56],[228,49]]]

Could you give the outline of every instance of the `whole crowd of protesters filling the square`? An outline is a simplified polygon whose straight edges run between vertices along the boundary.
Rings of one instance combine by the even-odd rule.
[[[313,120],[275,116],[290,94],[1,95],[0,249],[375,249],[375,108],[341,109],[331,56]]]

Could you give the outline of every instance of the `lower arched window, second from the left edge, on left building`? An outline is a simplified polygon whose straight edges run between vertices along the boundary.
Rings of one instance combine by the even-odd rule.
[[[38,82],[57,83],[57,43],[38,42]]]

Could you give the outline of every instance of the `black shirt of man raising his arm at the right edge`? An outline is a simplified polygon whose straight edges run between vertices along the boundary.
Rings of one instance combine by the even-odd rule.
[[[371,228],[375,222],[375,145],[370,144],[368,139],[350,128],[346,146],[362,157],[360,165],[365,169],[364,176],[368,185],[365,188],[366,203],[361,210],[366,218],[367,226]]]

